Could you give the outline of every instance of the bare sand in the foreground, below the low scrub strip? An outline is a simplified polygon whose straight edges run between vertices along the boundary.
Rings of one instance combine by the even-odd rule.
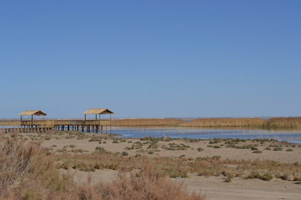
[[[66,173],[65,169],[60,169]],[[95,172],[84,172],[76,169],[69,169],[74,173],[77,182],[86,181],[88,174],[93,177],[92,183],[97,181],[109,182],[117,177],[117,171],[112,169],[96,169]],[[189,173],[190,178],[169,178],[174,182],[183,182],[192,193],[205,194],[206,199],[301,199],[301,184],[296,181],[273,179],[264,181],[260,179],[242,179],[235,177],[232,182],[223,182],[224,176],[198,176]]]

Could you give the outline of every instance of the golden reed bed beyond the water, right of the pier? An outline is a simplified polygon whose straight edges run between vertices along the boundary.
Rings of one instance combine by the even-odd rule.
[[[175,118],[112,120],[114,126],[178,126],[178,127],[301,127],[301,117],[262,118],[198,118],[190,121]]]

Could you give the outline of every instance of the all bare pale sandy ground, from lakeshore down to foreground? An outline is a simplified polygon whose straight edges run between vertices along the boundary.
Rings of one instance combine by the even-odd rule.
[[[26,136],[26,134],[24,133]],[[124,138],[126,142],[120,143],[112,143],[112,139],[102,139],[106,141],[106,143],[99,144],[98,141],[89,142],[89,139],[77,139],[70,138],[66,139],[61,135],[62,139],[56,139],[55,135],[50,140],[44,140],[43,146],[48,148],[53,148],[53,151],[57,149],[62,149],[64,146],[68,146],[70,144],[76,145],[77,149],[85,149],[88,152],[93,152],[95,147],[101,146],[104,147],[108,151],[112,152],[122,152],[126,151],[129,155],[135,155],[137,150],[125,150],[126,146],[131,146],[134,142],[140,141],[138,138]],[[133,143],[128,143],[128,141],[132,141]],[[141,141],[142,143],[145,141]],[[161,146],[168,146],[169,143],[175,142],[176,144],[184,143],[185,145],[190,145],[191,148],[188,150],[166,150]],[[236,145],[244,145],[244,144],[258,144],[258,149],[262,150],[262,153],[252,153],[251,149],[237,149],[237,148],[226,148],[227,144],[221,146],[221,148],[213,148],[207,147],[207,145],[221,145],[224,142],[220,142],[217,144],[209,144],[209,140],[199,141],[199,142],[186,142],[183,140],[173,140],[170,142],[160,141],[159,148],[161,151],[155,152],[154,154],[148,154],[147,152],[138,152],[140,154],[145,154],[147,156],[175,156],[179,157],[180,155],[186,155],[186,157],[205,157],[205,156],[213,156],[219,155],[221,159],[269,159],[280,162],[301,162],[301,147],[299,144],[292,143],[281,143],[281,142],[265,142],[265,144],[260,144],[260,142],[239,142]],[[281,151],[273,151],[273,150],[263,150],[268,147],[270,144],[281,144],[283,150]],[[53,146],[56,145],[56,146]],[[288,145],[288,147],[286,147]],[[292,147],[295,145],[295,147]],[[148,144],[143,146],[143,149],[146,149]],[[198,151],[197,148],[203,148],[204,151]],[[68,151],[71,150],[71,147],[65,147]],[[74,149],[75,149],[74,148]],[[270,147],[273,149],[274,147]],[[286,151],[286,149],[293,149],[293,151]],[[57,152],[56,152],[57,153]],[[84,172],[76,169],[60,169],[62,172],[70,172],[75,173],[74,179],[77,182],[85,181],[88,173],[91,173],[93,177],[93,181],[96,182],[98,180],[103,181],[111,181],[116,178],[117,171],[110,169],[96,169],[95,172]],[[279,178],[273,178],[271,181],[264,181],[260,179],[242,179],[239,177],[235,177],[232,179],[232,182],[226,183],[223,182],[224,176],[198,176],[196,174],[189,174],[189,178],[170,178],[171,181],[181,182],[187,185],[188,190],[201,192],[202,194],[206,194],[206,199],[301,199],[301,184],[297,184],[296,181],[288,181],[281,180]]]

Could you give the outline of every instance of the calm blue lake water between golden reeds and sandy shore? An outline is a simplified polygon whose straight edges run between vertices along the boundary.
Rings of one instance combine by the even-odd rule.
[[[187,138],[274,138],[278,141],[286,140],[301,144],[301,129],[260,129],[246,127],[222,128],[183,128],[183,127],[112,127],[112,133],[121,134],[122,137],[187,137]]]

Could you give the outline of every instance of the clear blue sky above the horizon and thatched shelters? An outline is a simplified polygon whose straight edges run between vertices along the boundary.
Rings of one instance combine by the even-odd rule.
[[[300,10],[300,0],[2,0],[0,118],[94,107],[300,116]]]

